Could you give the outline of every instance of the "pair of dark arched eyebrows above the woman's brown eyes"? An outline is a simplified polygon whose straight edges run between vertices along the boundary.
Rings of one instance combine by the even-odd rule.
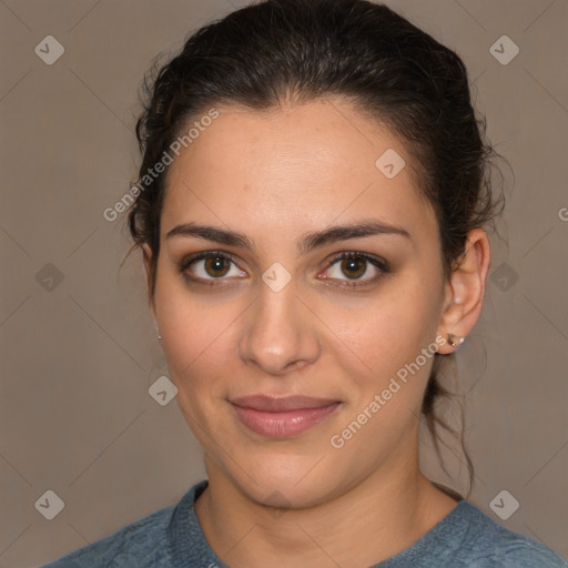
[[[405,229],[373,219],[348,225],[336,225],[318,232],[306,233],[302,236],[297,247],[301,254],[306,254],[312,250],[321,248],[327,244],[338,241],[373,235],[399,235],[412,241],[410,233]],[[166,239],[171,239],[173,236],[203,239],[205,241],[213,241],[226,246],[236,246],[247,251],[254,251],[253,242],[243,233],[219,229],[211,225],[182,223],[174,226],[165,235]]]

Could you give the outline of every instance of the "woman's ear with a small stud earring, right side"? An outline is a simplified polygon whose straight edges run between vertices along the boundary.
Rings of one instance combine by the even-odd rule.
[[[474,229],[467,234],[466,246],[459,266],[446,283],[445,302],[438,334],[446,339],[438,353],[456,351],[447,337],[453,333],[466,337],[474,328],[484,305],[485,283],[491,252],[489,240],[483,229]]]

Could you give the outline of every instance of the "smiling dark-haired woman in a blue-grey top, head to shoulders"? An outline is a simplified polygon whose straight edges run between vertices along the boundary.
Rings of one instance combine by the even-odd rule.
[[[418,467],[500,203],[460,59],[383,6],[267,0],[189,39],[136,133],[130,230],[207,480],[48,566],[566,566]]]

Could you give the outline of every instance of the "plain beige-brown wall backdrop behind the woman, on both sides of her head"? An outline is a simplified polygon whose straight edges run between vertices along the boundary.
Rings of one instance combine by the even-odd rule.
[[[1,568],[102,538],[204,477],[175,400],[149,396],[166,368],[140,257],[119,268],[124,215],[111,223],[102,212],[135,178],[136,89],[150,60],[245,3],[0,1]],[[470,500],[566,557],[568,2],[387,3],[465,59],[509,189],[515,175],[484,314],[458,357]],[[53,65],[34,53],[48,34],[65,50]],[[503,34],[520,48],[508,65],[489,52]],[[47,264],[63,277],[52,290]],[[454,480],[424,463],[463,489],[459,457],[448,454]],[[48,489],[64,501],[53,520],[34,508]],[[520,504],[508,520],[489,508],[503,489]]]

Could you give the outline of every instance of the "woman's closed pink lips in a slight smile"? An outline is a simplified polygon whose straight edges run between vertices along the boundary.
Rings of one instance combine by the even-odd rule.
[[[230,403],[244,426],[271,438],[302,434],[327,418],[341,404],[308,396],[275,398],[266,395],[244,396]]]

